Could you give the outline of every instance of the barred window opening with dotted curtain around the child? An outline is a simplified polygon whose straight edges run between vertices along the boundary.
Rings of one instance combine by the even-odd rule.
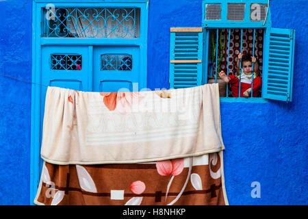
[[[207,82],[218,81],[220,83],[220,97],[240,97],[240,92],[238,92],[240,86],[238,90],[231,89],[218,77],[218,74],[223,70],[226,75],[240,77],[239,69],[242,69],[242,63],[239,62],[238,65],[238,55],[243,53],[257,57],[257,66],[253,63],[251,68],[255,69],[256,76],[262,77],[264,29],[234,28],[207,29],[205,31],[209,32],[209,47],[207,51],[204,51],[204,53],[208,53]],[[253,78],[251,81],[253,82]],[[256,86],[259,86],[259,89]],[[253,90],[250,96],[261,97],[261,83],[255,81],[255,89]]]

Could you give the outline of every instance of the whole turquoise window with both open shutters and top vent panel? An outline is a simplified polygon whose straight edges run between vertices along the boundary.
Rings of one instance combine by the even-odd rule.
[[[268,0],[203,0],[202,10],[202,27],[170,28],[170,88],[219,82],[222,101],[292,101],[295,31],[271,27]],[[179,55],[188,57],[190,51],[188,44],[182,45],[185,49],[178,49],[179,32],[196,34],[198,57],[179,61]],[[238,53],[256,57],[257,64],[251,68],[256,68],[258,79],[242,75],[242,63],[237,63]],[[192,63],[198,67],[193,68]],[[251,82],[246,81],[242,88],[247,83],[249,88],[250,84],[252,92],[248,96],[252,98],[242,97],[243,83],[238,83],[238,91],[230,83],[220,83],[216,74],[220,70],[239,80],[242,76],[248,77]],[[261,88],[256,91],[255,79],[261,82]]]

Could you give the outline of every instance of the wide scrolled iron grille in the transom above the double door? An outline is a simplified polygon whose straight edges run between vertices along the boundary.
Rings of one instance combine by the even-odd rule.
[[[43,37],[139,38],[140,8],[44,10]]]

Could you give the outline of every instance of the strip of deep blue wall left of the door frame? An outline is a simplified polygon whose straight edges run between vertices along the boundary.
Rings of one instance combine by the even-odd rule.
[[[31,1],[0,1],[0,74],[31,81]],[[31,84],[0,76],[0,205],[29,204]]]

